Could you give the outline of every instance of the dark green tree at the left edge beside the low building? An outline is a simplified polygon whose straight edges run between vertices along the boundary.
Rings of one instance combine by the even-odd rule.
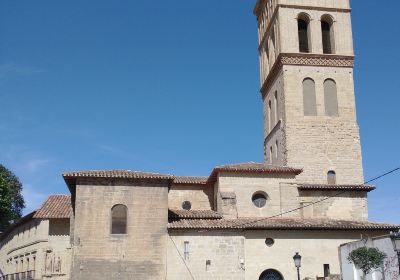
[[[0,164],[0,232],[21,218],[25,207],[21,192],[17,176]]]

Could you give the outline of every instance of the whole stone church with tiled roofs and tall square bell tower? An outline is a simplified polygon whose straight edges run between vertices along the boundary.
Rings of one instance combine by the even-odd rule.
[[[292,280],[296,253],[301,279],[340,279],[342,244],[400,229],[368,220],[349,0],[258,0],[254,15],[265,161],[65,172],[69,279]]]

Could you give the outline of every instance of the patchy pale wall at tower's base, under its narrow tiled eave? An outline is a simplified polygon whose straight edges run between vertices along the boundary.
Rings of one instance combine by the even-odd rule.
[[[313,204],[304,209],[303,218],[329,218],[338,220],[368,220],[367,193],[359,191],[347,191],[337,195],[339,191],[315,191],[300,192],[300,201],[303,205],[309,205],[315,201],[330,199]]]

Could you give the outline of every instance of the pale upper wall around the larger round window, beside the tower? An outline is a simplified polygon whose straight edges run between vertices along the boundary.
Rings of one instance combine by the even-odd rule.
[[[239,218],[272,216],[281,213],[282,209],[298,207],[298,202],[293,203],[293,197],[290,196],[292,191],[297,191],[297,188],[284,186],[284,192],[281,190],[281,185],[294,181],[294,177],[290,175],[249,175],[224,172],[218,176],[219,192],[236,194],[236,209]],[[252,196],[256,192],[267,194],[268,201],[265,207],[257,208],[253,204]],[[297,199],[298,194],[294,200]]]

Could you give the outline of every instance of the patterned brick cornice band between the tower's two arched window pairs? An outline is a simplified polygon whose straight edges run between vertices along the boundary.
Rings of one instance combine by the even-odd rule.
[[[353,68],[354,56],[281,53],[261,87],[260,91],[263,98],[268,93],[283,65]]]

